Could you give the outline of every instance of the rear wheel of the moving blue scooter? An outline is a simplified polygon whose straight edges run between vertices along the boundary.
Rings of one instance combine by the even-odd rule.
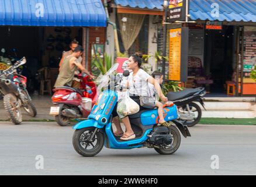
[[[179,146],[181,145],[181,134],[179,133],[179,130],[175,126],[169,127],[170,134],[172,136],[172,143],[168,146],[161,146],[160,148],[154,148],[155,151],[159,154],[174,154]]]

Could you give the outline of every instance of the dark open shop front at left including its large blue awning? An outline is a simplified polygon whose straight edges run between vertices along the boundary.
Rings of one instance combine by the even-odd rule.
[[[90,70],[89,51],[94,44],[105,44],[106,22],[101,0],[3,0],[0,56],[26,57],[23,74],[30,82],[29,91],[49,94],[62,53],[70,50],[71,41],[76,40],[84,47],[82,64]]]

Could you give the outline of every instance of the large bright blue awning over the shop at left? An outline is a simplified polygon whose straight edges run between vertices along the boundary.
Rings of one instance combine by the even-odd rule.
[[[105,27],[106,22],[101,0],[0,1],[0,25]]]

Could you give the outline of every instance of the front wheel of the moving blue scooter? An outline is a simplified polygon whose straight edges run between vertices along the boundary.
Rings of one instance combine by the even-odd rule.
[[[98,154],[104,145],[104,136],[101,132],[96,131],[92,141],[89,141],[94,133],[94,127],[75,130],[72,143],[75,151],[83,157],[94,157]]]

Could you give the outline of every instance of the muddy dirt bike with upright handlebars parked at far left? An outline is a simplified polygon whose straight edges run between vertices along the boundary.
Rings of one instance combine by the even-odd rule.
[[[14,124],[22,123],[21,108],[35,117],[36,108],[26,89],[27,78],[17,73],[17,68],[26,63],[26,58],[16,61],[0,73],[0,91],[4,95],[4,107]]]

